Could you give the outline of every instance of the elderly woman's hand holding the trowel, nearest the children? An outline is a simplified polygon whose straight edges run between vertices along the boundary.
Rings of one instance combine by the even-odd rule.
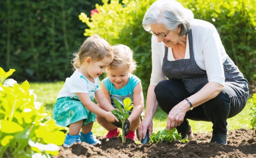
[[[145,117],[140,126],[138,127],[139,129],[139,137],[140,139],[145,139],[146,137],[146,132],[149,130],[149,136],[152,134],[153,131],[153,121],[152,118],[150,117]]]

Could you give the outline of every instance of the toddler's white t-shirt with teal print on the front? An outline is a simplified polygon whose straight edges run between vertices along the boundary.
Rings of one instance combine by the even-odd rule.
[[[75,71],[70,77],[66,78],[66,81],[58,94],[57,98],[61,97],[73,97],[77,93],[88,93],[90,99],[94,99],[94,94],[100,89],[99,78],[94,78],[94,83],[90,82],[79,71]]]

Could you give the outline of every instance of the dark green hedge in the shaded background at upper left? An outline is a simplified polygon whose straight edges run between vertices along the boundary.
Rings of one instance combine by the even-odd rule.
[[[80,12],[101,0],[0,1],[0,66],[16,81],[56,81],[71,75],[71,56],[86,39]]]

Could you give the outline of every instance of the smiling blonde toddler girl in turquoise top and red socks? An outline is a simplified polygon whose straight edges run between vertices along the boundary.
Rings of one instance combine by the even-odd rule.
[[[108,77],[102,80],[101,90],[107,100],[115,107],[113,99],[119,100],[123,105],[123,100],[127,97],[131,99],[134,105],[130,117],[126,120],[128,125],[128,133],[126,138],[137,140],[135,131],[140,125],[140,115],[143,111],[143,92],[140,79],[131,73],[136,69],[136,62],[133,60],[133,52],[128,46],[113,46],[114,59],[107,67]],[[101,104],[99,105],[101,106]],[[104,109],[104,107],[102,107]],[[105,109],[107,110],[107,109]],[[120,133],[119,129],[109,123],[101,116],[96,117],[98,123],[108,130],[105,138],[117,137]]]

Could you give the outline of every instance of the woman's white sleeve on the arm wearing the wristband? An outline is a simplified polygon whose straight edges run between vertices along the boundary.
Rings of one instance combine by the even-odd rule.
[[[221,85],[225,83],[223,62],[221,52],[224,47],[216,28],[208,30],[208,38],[203,47],[204,64],[209,82],[217,82]]]

